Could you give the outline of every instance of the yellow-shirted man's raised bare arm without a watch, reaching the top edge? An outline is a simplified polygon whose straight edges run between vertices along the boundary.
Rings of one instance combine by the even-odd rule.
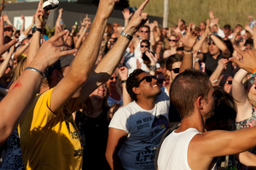
[[[94,68],[99,54],[102,36],[108,22],[108,17],[113,11],[114,3],[117,2],[118,0],[100,1],[88,37],[86,37],[81,48],[79,48],[79,52],[76,54],[67,76],[62,78],[61,82],[59,82],[53,90],[50,103],[51,111],[55,112],[61,105],[64,105],[90,77],[90,73]],[[112,57],[113,56],[114,55],[112,55]],[[108,62],[111,62],[111,60]],[[89,94],[93,92],[93,90],[90,91]],[[83,94],[83,92],[81,92],[81,94]],[[74,111],[77,110],[74,108]]]

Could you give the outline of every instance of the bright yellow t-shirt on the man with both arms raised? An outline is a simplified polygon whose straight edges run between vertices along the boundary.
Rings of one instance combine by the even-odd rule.
[[[26,169],[82,169],[83,148],[71,115],[72,100],[54,114],[49,110],[54,88],[38,95],[19,125]]]

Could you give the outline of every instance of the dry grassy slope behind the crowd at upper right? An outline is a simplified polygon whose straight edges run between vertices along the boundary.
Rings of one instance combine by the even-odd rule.
[[[144,0],[130,0],[131,7],[139,7]],[[208,12],[212,10],[219,19],[219,26],[236,24],[244,26],[249,22],[247,15],[256,19],[255,0],[169,0],[168,26],[176,26],[178,18],[194,22],[199,26],[201,21],[209,18]],[[144,12],[154,16],[163,16],[164,0],[150,0]]]

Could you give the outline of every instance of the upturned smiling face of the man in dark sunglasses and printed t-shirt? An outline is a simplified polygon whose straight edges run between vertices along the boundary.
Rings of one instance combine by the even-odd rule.
[[[143,77],[152,77],[152,75],[146,72],[142,72],[138,75],[139,80],[142,80]],[[140,94],[138,95],[141,95],[145,99],[156,98],[161,93],[157,79],[151,78],[151,82],[148,82],[148,80],[150,80],[150,78],[140,82],[138,86],[138,88],[140,88]]]

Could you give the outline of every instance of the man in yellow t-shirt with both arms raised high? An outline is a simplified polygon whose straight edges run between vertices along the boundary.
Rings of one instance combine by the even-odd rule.
[[[72,65],[66,62],[68,57],[64,57],[47,71],[50,73],[47,77],[51,89],[36,98],[19,126],[20,148],[26,169],[81,169],[83,149],[71,113],[78,111],[80,104],[97,87],[108,81],[132,36],[148,16],[142,12],[148,3],[145,0],[112,50],[92,71],[101,48],[105,26],[114,3],[118,1],[100,1],[90,33],[79,48]],[[61,47],[62,50],[65,48]],[[56,65],[60,67],[56,69]]]

